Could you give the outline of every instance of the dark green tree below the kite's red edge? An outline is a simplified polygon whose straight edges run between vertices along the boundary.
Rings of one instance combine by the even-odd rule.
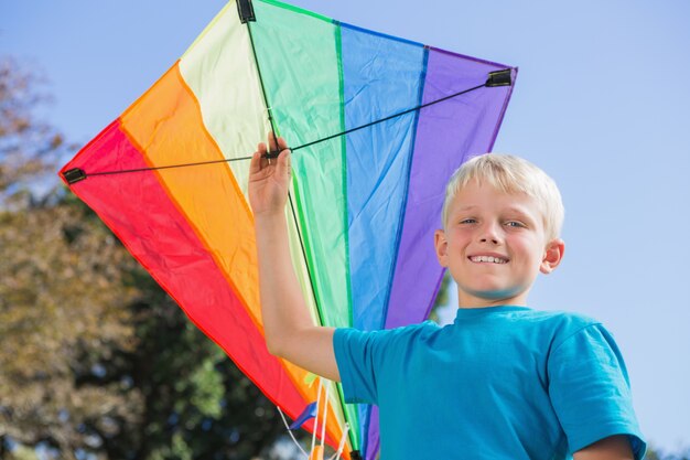
[[[273,405],[145,274],[132,304],[140,345],[112,360],[143,395],[141,429],[106,442],[108,458],[250,459],[284,428]],[[145,432],[145,436],[142,436]]]

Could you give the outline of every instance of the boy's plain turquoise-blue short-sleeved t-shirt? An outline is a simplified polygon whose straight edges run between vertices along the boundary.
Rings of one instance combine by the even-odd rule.
[[[348,403],[379,407],[381,460],[568,459],[639,431],[625,363],[596,321],[526,307],[459,309],[386,331],[337,329]]]

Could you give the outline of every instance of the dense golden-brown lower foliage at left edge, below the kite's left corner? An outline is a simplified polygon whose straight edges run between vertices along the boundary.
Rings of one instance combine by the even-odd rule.
[[[84,213],[61,204],[0,215],[0,434],[65,452],[88,447],[87,420],[134,421],[141,402],[77,378],[85,353],[108,359],[134,344],[122,304],[136,290],[121,279],[133,263]]]

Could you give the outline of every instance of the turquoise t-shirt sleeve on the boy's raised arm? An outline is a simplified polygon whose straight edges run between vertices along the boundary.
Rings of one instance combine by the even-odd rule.
[[[381,331],[335,330],[333,350],[345,402],[377,404],[376,361],[381,335]]]

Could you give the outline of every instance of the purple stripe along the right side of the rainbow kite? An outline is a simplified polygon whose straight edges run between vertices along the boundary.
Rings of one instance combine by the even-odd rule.
[[[422,103],[481,85],[489,72],[506,67],[430,49]],[[386,329],[428,317],[443,277],[433,235],[442,227],[445,184],[467,158],[490,151],[511,90],[479,88],[420,111]],[[367,435],[366,458],[374,460],[380,447],[378,407],[371,409]]]

